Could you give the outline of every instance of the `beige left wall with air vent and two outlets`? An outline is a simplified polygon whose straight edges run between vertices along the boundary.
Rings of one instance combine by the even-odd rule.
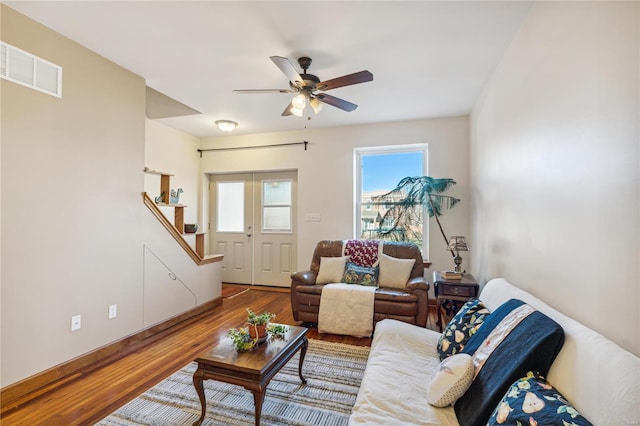
[[[62,99],[0,82],[5,386],[142,327],[145,82],[1,10],[3,41],[63,68]]]

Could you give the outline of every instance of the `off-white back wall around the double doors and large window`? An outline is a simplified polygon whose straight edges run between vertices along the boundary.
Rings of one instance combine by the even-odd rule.
[[[295,120],[295,117],[281,118]],[[204,139],[202,147],[221,148],[308,141],[302,146],[204,152],[203,173],[298,170],[298,269],[308,269],[318,241],[354,237],[353,150],[358,147],[429,144],[429,174],[457,181],[450,194],[462,199],[441,221],[448,235],[469,235],[468,117],[407,121],[331,129],[301,130]],[[319,213],[321,222],[305,222],[307,213]],[[432,270],[451,269],[435,220],[429,221]],[[473,250],[473,240],[470,241]],[[464,257],[468,267],[473,252]],[[430,275],[429,275],[430,276]]]

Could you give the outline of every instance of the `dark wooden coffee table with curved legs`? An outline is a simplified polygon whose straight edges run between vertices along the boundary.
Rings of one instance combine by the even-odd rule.
[[[206,379],[243,386],[253,392],[256,426],[260,425],[260,414],[267,385],[299,349],[298,375],[302,383],[307,383],[307,380],[302,377],[302,363],[309,345],[308,330],[293,325],[287,327],[289,330],[283,339],[269,338],[249,352],[238,352],[230,339],[226,336],[222,337],[218,344],[196,358],[198,369],[193,373],[193,385],[198,392],[202,412],[200,419],[193,423],[193,426],[199,426],[206,415],[207,401],[202,386],[202,382]]]

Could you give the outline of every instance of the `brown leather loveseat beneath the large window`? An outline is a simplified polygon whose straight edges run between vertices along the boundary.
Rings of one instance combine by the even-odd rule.
[[[316,246],[308,271],[291,275],[291,310],[296,321],[318,323],[320,295],[323,284],[316,284],[321,257],[342,256],[342,240],[324,240]],[[407,286],[404,289],[378,287],[374,303],[374,325],[385,318],[427,325],[429,284],[424,278],[422,254],[415,244],[385,241],[382,252],[388,256],[415,259]]]

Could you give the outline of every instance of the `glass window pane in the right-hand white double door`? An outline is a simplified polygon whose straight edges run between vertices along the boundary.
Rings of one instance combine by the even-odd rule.
[[[291,180],[262,181],[262,232],[292,232]]]

